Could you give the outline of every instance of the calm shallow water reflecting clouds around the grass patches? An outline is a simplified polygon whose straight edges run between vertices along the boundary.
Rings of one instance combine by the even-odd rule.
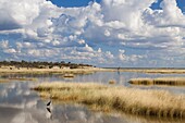
[[[12,75],[10,75],[12,76]],[[17,76],[17,75],[14,75]],[[18,75],[21,76],[21,75]],[[42,82],[96,82],[108,84],[114,79],[120,86],[128,86],[141,89],[166,89],[176,95],[184,95],[185,87],[172,86],[133,86],[127,82],[134,77],[161,77],[161,76],[184,76],[184,74],[144,74],[130,72],[97,72],[89,75],[76,75],[72,79],[62,78],[59,74],[24,75],[37,77]],[[185,120],[159,119],[137,116],[130,114],[104,114],[89,111],[84,106],[69,103],[52,103],[47,109],[49,100],[42,100],[37,93],[30,90],[38,83],[18,82],[0,84],[0,123],[184,123]],[[50,112],[49,112],[50,111]]]

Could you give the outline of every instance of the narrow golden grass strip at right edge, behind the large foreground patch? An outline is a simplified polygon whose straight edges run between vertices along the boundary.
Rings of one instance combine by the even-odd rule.
[[[135,84],[135,85],[184,86],[185,77],[133,78],[128,83]]]

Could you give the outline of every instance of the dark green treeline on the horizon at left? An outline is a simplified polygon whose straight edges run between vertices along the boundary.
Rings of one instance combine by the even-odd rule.
[[[53,66],[59,67],[70,67],[70,69],[78,69],[78,67],[85,67],[85,66],[92,66],[89,64],[76,64],[64,61],[61,62],[46,62],[46,61],[0,61],[0,66],[15,66],[15,67],[36,67],[36,69],[52,69]]]

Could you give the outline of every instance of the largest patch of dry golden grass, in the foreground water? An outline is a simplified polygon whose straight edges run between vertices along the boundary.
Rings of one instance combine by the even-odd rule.
[[[45,83],[34,89],[41,97],[84,103],[94,110],[185,118],[185,97],[165,90],[141,90],[94,83]]]

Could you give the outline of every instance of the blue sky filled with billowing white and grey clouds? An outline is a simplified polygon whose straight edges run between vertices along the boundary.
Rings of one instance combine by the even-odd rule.
[[[0,60],[184,67],[185,0],[0,0]]]

